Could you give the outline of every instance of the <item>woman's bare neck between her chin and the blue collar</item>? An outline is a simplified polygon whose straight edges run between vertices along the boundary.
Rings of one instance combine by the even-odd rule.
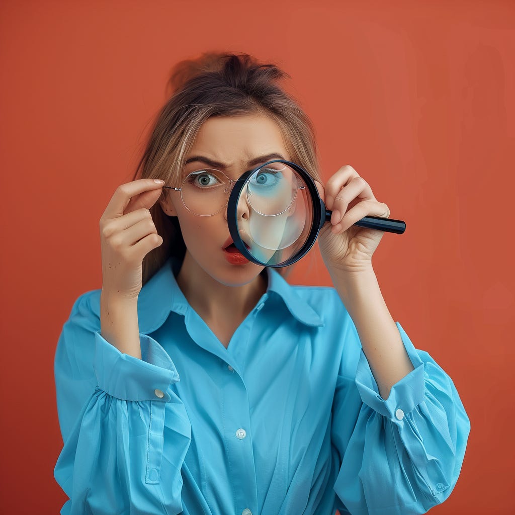
[[[203,270],[186,250],[177,276],[184,297],[204,320],[243,320],[267,287],[267,278],[259,274],[242,286],[227,286]]]

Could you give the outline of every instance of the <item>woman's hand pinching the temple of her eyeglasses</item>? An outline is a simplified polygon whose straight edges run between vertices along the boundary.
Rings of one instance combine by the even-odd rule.
[[[100,217],[102,295],[138,299],[143,258],[163,243],[149,211],[163,184],[138,179],[119,185]]]

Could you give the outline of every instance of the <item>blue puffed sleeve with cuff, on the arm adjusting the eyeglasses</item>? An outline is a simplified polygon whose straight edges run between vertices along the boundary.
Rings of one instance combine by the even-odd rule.
[[[191,425],[170,388],[179,374],[156,340],[140,334],[138,359],[102,338],[99,325],[84,294],[57,345],[54,371],[64,445],[54,475],[70,498],[61,513],[180,513],[181,466]],[[171,445],[163,455],[165,431]]]

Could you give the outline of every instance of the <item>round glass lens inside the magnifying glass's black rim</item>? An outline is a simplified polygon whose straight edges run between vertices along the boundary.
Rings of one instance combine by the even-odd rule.
[[[253,258],[281,265],[303,248],[313,226],[304,179],[284,163],[254,171],[238,198],[237,229]]]

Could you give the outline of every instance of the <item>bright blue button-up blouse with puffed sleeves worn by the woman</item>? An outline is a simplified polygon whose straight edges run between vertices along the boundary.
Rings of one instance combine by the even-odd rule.
[[[100,290],[55,357],[62,514],[423,513],[456,483],[458,393],[397,322],[415,369],[384,400],[329,287],[268,289],[226,349],[168,262],[138,299],[142,359],[100,336]]]

